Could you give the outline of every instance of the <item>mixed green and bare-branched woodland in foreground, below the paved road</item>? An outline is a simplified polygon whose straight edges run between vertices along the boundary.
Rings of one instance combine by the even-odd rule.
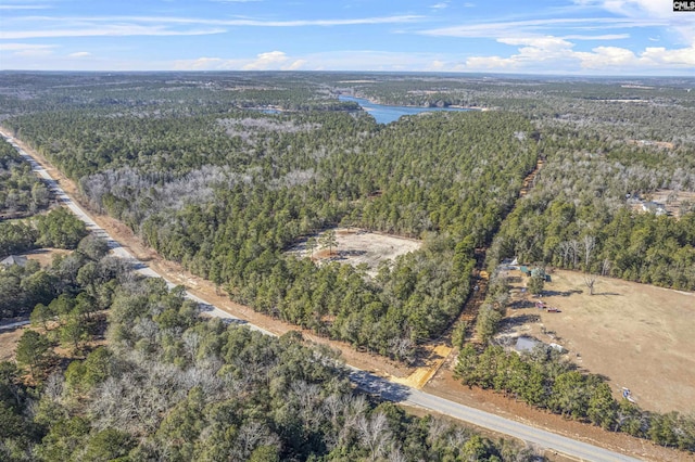
[[[375,401],[336,351],[205,320],[182,287],[105,253],[89,238],[41,270],[52,298],[0,363],[0,459],[538,460]]]

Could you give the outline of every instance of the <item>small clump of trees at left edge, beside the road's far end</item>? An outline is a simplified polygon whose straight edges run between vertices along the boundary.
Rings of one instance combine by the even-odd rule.
[[[0,139],[0,219],[33,215],[48,207],[50,193],[31,172],[31,166],[4,139]]]

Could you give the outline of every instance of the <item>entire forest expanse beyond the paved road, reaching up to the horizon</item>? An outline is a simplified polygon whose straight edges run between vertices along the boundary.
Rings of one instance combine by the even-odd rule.
[[[491,270],[516,256],[695,288],[692,202],[678,218],[634,207],[656,191],[695,192],[687,79],[71,78],[66,87],[61,75],[5,73],[3,125],[163,256],[321,335],[412,359],[460,311],[473,249],[493,235]],[[494,111],[383,126],[339,93]],[[517,202],[539,158],[543,168]],[[286,256],[337,224],[425,245],[376,278]]]

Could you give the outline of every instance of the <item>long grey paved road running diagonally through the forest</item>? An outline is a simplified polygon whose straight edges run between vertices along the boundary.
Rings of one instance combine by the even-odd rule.
[[[16,150],[17,152],[25,158],[27,162],[31,164],[31,168],[37,172],[41,178],[46,180],[49,184],[50,189],[53,191],[58,200],[68,207],[73,213],[81,219],[85,223],[87,223],[87,228],[89,228],[94,234],[103,238],[108,243],[109,247],[111,247],[114,255],[126,258],[132,261],[135,268],[141,274],[152,278],[162,278],[159,273],[153,271],[142,261],[136,259],[130,252],[124,248],[117,241],[112,239],[104,229],[100,228],[94,220],[91,219],[87,213],[75,204],[72,198],[65,194],[65,191],[58,184],[58,182],[51,178],[51,176],[46,171],[43,167],[28,153],[22,150],[14,140],[8,134],[0,131],[0,134],[4,137]],[[169,287],[174,287],[175,284],[167,281],[166,284]],[[190,299],[198,301],[203,306],[203,310],[206,311],[206,315],[222,318],[225,320],[229,320],[230,323],[241,323],[248,325],[250,329],[260,331],[267,335],[275,335],[264,329],[261,329],[256,325],[249,323],[245,320],[236,318],[219,308],[207,304],[201,298],[187,293],[187,297]],[[614,461],[636,461],[637,459],[632,459],[627,455],[619,454],[617,452],[608,451],[606,449],[598,448],[596,446],[587,445],[585,442],[577,441],[571,438],[567,438],[564,436],[559,436],[549,432],[545,432],[539,428],[534,428],[529,425],[525,425],[519,422],[515,422],[508,419],[501,418],[495,414],[491,414],[489,412],[480,411],[478,409],[469,408],[467,406],[459,405],[454,401],[450,401],[444,398],[440,398],[434,395],[430,395],[428,393],[424,393],[417,390],[415,388],[410,388],[404,385],[394,384],[392,382],[387,381],[386,378],[376,376],[366,371],[362,371],[356,368],[351,368],[352,372],[350,374],[351,381],[357,385],[359,388],[366,390],[367,393],[376,394],[381,396],[382,398],[394,401],[394,402],[404,402],[407,405],[413,405],[429,411],[439,412],[442,414],[450,415],[454,419],[458,419],[464,422],[469,422],[473,425],[489,428],[493,432],[502,433],[515,438],[519,438],[525,441],[530,441],[535,445],[539,445],[543,448],[549,448],[557,452],[564,453],[569,457],[577,458],[579,460],[584,461],[595,461],[595,462],[614,462]]]

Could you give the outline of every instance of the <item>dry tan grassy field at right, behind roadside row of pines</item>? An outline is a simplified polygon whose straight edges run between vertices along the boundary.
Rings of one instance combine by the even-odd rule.
[[[509,271],[515,306],[535,298],[526,278]],[[589,295],[583,275],[555,271],[542,299],[559,312],[509,309],[503,335],[557,343],[581,368],[605,375],[614,395],[622,387],[644,409],[695,412],[695,294],[598,278]]]

